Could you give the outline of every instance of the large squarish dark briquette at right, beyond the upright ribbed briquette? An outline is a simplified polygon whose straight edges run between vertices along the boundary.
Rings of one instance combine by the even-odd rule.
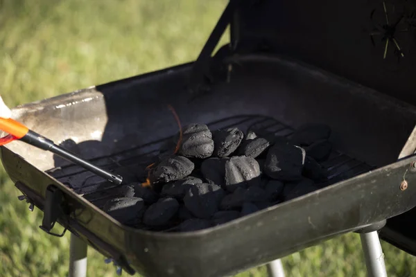
[[[291,143],[276,143],[268,150],[264,172],[281,181],[301,179],[305,156],[303,148]]]

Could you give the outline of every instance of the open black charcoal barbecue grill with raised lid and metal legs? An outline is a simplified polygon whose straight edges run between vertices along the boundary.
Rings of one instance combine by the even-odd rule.
[[[195,62],[13,109],[13,118],[125,183],[144,181],[177,134],[168,105],[182,124],[210,129],[287,137],[323,123],[333,151],[322,163],[328,182],[314,192],[175,233],[121,224],[102,208],[124,185],[49,152],[13,141],[1,147],[3,165],[21,199],[44,212],[43,231],[63,235],[53,231],[58,222],[81,247],[73,255],[83,258],[88,244],[128,274],[230,276],[354,231],[369,274],[383,276],[378,235],[416,253],[412,5],[232,0]],[[211,55],[227,26],[229,44]]]

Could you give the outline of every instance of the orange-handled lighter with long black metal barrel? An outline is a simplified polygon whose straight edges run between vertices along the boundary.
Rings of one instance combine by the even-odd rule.
[[[67,159],[68,161],[76,163],[79,166],[94,172],[96,175],[103,177],[112,183],[121,184],[123,181],[121,176],[114,175],[111,172],[107,172],[106,170],[94,166],[92,163],[80,159],[80,157],[77,157],[67,150],[64,150],[64,148],[55,145],[55,143],[53,143],[53,141],[50,139],[46,139],[44,136],[33,132],[31,129],[12,118],[0,118],[0,129],[8,133],[8,135],[0,138],[0,145],[5,145],[6,143],[10,143],[15,140],[24,141],[25,143],[33,145],[42,150],[53,152],[58,156]]]

